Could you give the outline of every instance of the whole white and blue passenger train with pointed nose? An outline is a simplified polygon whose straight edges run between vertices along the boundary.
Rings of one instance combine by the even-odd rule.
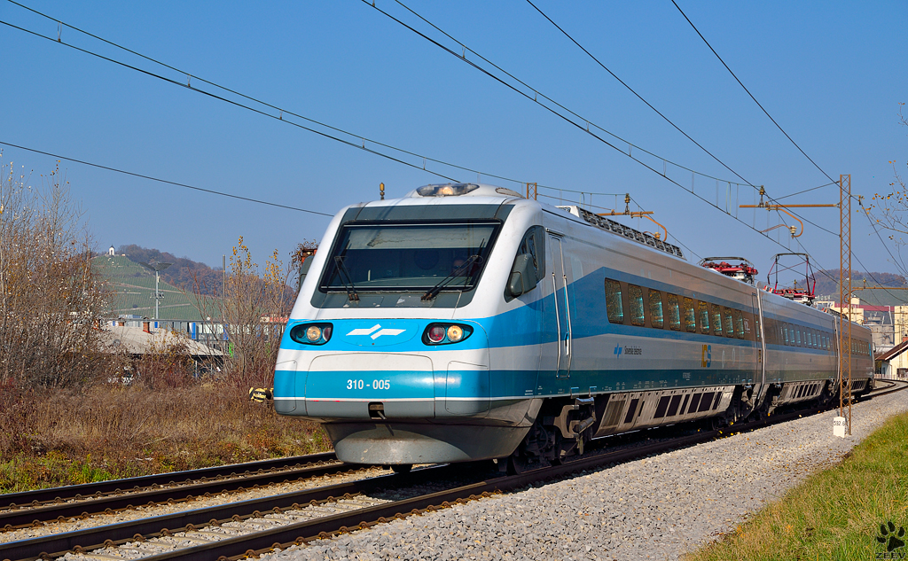
[[[345,462],[519,472],[598,438],[832,402],[848,350],[850,393],[873,388],[869,330],[733,277],[494,185],[353,204],[301,280],[274,408],[320,422]]]

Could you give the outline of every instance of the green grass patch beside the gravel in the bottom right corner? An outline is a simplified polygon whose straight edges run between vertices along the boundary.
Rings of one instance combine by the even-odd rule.
[[[809,477],[722,540],[685,559],[908,558],[908,546],[877,557],[886,547],[876,538],[889,522],[896,533],[908,527],[908,415],[889,419],[841,464]],[[908,534],[903,540],[908,542]]]

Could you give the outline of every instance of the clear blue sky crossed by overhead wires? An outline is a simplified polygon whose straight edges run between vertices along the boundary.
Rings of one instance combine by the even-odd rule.
[[[855,194],[888,189],[893,180],[889,162],[903,166],[908,158],[908,129],[897,119],[898,103],[908,102],[908,3],[677,1],[824,172],[835,180],[851,173]],[[287,122],[281,122],[78,52],[58,44],[58,33],[64,43],[187,82],[186,74],[0,0],[0,20],[54,38],[0,25],[3,143],[328,214],[351,202],[377,199],[380,182],[395,197],[444,181],[417,169],[421,156],[427,156],[477,170],[481,181],[517,190],[518,184],[488,174],[576,192],[630,192],[666,225],[670,241],[696,253],[687,252],[690,261],[696,262],[696,255],[741,255],[765,279],[773,255],[789,251],[361,0],[21,3],[197,76],[189,82],[193,87],[273,116],[280,113],[199,78],[208,80],[356,136],[287,114]],[[635,144],[632,155],[658,172],[662,160],[640,149],[721,178],[717,186],[715,179],[696,176],[693,185],[696,194],[723,209],[734,213],[737,203],[755,202],[751,187],[729,188],[727,182],[765,185],[775,198],[829,182],[735,82],[671,0],[534,3],[734,172],[662,120],[525,0],[405,4],[539,94],[579,114],[577,122],[595,123]],[[400,4],[377,0],[376,6],[463,54],[462,46]],[[494,70],[469,50],[466,54]],[[365,143],[413,164],[407,166],[291,123],[357,145],[365,137],[419,156]],[[627,152],[627,143],[597,133]],[[17,170],[25,166],[33,183],[54,167],[53,157],[2,149],[3,162],[15,162]],[[64,161],[61,166],[101,250],[137,243],[220,266],[222,254],[242,235],[263,263],[275,248],[286,257],[298,241],[321,241],[329,220],[80,163]],[[476,172],[431,161],[426,167],[460,181],[478,179]],[[691,172],[671,164],[665,169],[690,189]],[[540,193],[566,202],[581,197]],[[582,196],[589,202],[589,195]],[[784,199],[837,201],[835,185]],[[615,197],[593,195],[592,202],[611,208]],[[799,213],[838,231],[836,209]],[[762,210],[742,210],[738,217],[757,230],[779,223],[775,213]],[[646,221],[623,221],[654,230]],[[864,265],[898,272],[867,220],[855,214],[853,224],[854,251]],[[773,231],[774,240],[800,251],[786,237],[783,229]],[[838,267],[837,236],[806,224],[798,240],[820,267]],[[863,269],[857,261],[854,268]]]

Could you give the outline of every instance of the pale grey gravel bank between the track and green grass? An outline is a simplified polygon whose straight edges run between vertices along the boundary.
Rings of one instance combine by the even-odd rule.
[[[828,412],[262,559],[677,559],[906,410],[898,392],[855,405],[849,438],[833,436]]]

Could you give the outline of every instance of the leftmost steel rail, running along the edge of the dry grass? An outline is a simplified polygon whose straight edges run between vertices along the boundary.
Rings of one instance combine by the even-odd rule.
[[[202,467],[201,469],[190,469],[186,471],[174,471],[171,473],[153,474],[142,477],[129,477],[126,479],[111,479],[110,481],[100,481],[97,483],[85,483],[83,485],[69,485],[66,487],[52,487],[47,489],[36,489],[34,491],[23,491],[20,493],[6,493],[0,496],[5,505],[9,507],[23,507],[38,503],[52,502],[57,498],[67,499],[76,498],[80,495],[88,497],[98,493],[114,493],[128,490],[127,487],[152,487],[154,485],[169,485],[180,483],[178,479],[183,477],[183,482],[202,479],[203,477],[242,477],[251,471],[269,470],[269,469],[286,469],[288,467],[303,466],[306,464],[323,463],[337,460],[334,452],[325,452],[321,454],[311,454],[310,456],[292,456],[290,458],[262,459],[254,462],[243,464],[231,464],[228,466]],[[6,501],[9,501],[8,503]]]

